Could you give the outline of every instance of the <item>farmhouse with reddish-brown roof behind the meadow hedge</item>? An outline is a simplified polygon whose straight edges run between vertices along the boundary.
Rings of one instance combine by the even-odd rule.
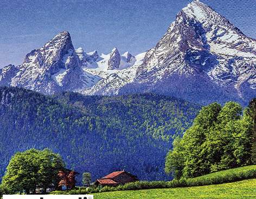
[[[138,181],[137,176],[128,173],[127,171],[114,171],[103,178],[98,179],[95,184],[100,186],[116,187],[119,184]]]

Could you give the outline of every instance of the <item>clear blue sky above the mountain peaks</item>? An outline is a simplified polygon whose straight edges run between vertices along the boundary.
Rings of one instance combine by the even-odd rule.
[[[0,67],[21,64],[60,31],[75,48],[136,55],[158,42],[188,0],[1,0]],[[256,38],[255,0],[202,0]]]

